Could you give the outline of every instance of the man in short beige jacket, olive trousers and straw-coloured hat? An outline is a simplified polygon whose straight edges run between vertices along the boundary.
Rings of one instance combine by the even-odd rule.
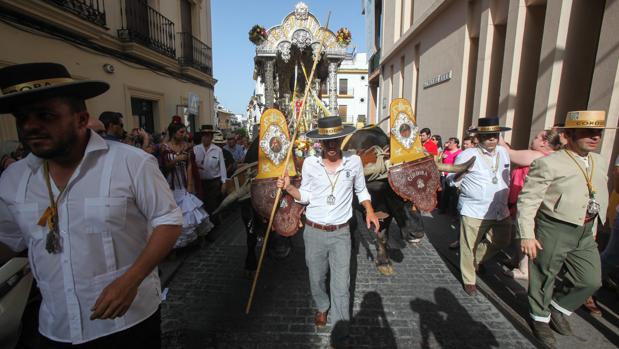
[[[595,223],[606,219],[606,160],[594,151],[605,128],[604,111],[567,113],[566,148],[535,160],[518,198],[518,236],[529,256],[529,310],[533,333],[556,342],[550,326],[571,334],[566,315],[601,285]],[[565,270],[561,287],[557,274]],[[549,326],[550,324],[550,326]]]

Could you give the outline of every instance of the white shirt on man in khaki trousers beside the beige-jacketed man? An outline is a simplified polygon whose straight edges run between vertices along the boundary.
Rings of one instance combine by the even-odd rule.
[[[469,148],[456,157],[455,164],[460,165],[473,157],[477,158],[475,163],[460,182],[458,210],[463,216],[477,219],[504,219],[509,216],[509,154],[500,145],[497,145],[493,154],[481,147]],[[495,177],[497,183],[492,182]]]

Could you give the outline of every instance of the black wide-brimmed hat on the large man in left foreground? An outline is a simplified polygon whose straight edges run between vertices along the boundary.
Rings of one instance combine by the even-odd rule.
[[[58,63],[11,65],[0,69],[0,113],[10,113],[27,103],[52,97],[88,99],[109,88],[104,81],[75,80]]]

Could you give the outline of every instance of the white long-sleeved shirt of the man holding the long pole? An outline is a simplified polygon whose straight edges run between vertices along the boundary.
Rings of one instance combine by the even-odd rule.
[[[342,163],[330,178],[322,158],[318,156],[305,159],[301,173],[299,203],[307,204],[305,216],[314,223],[328,225],[346,223],[352,217],[353,188],[359,202],[371,200],[365,185],[361,158],[357,155],[344,153]],[[331,195],[331,183],[335,183],[334,205],[327,204],[327,197]]]

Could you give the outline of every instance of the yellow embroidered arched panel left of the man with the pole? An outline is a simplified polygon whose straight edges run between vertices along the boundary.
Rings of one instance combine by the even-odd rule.
[[[284,162],[292,146],[286,118],[277,109],[267,109],[260,118],[258,175],[256,178],[274,178],[284,173]],[[296,175],[294,161],[288,163],[288,174]]]

